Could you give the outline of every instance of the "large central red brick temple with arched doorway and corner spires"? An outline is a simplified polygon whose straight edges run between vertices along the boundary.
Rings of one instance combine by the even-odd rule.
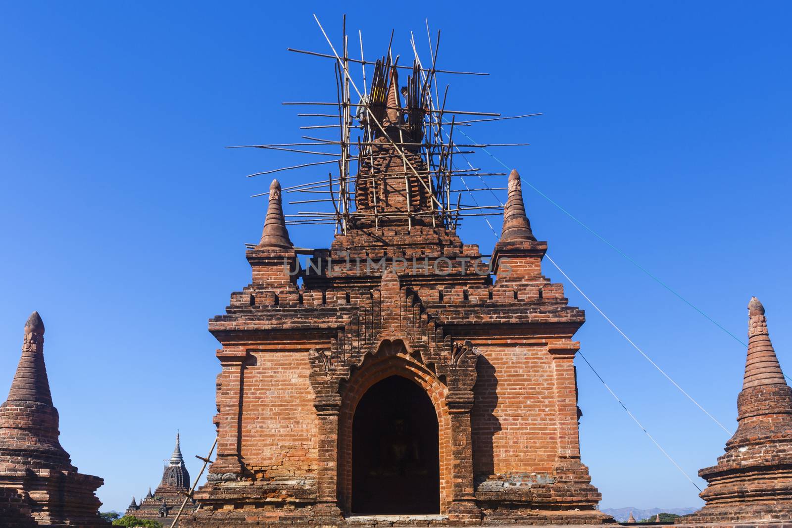
[[[388,88],[390,112],[395,75]],[[584,313],[542,275],[519,174],[489,269],[455,224],[417,212],[432,201],[420,132],[389,112],[356,220],[305,269],[272,182],[252,283],[209,323],[218,453],[183,526],[610,519],[578,439]]]

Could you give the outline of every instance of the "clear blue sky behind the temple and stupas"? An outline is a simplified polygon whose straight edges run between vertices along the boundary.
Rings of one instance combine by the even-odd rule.
[[[531,142],[496,154],[741,338],[748,299],[759,296],[792,374],[788,4],[372,6],[348,7],[367,55],[384,52],[391,28],[396,52],[411,55],[413,30],[427,55],[425,17],[440,26],[440,65],[491,73],[441,78],[452,83],[449,106],[544,112],[471,127],[471,137]],[[257,241],[265,216],[264,199],[248,196],[269,180],[245,175],[305,159],[223,147],[298,141],[307,123],[280,101],[333,100],[332,64],[286,51],[327,51],[314,11],[338,40],[343,9],[305,2],[3,2],[0,399],[25,319],[39,310],[61,441],[79,469],[105,478],[104,509],[158,484],[177,429],[192,473],[192,456],[211,445],[219,363],[207,319],[249,283],[244,243]],[[524,193],[558,264],[735,427],[744,348]],[[291,228],[304,247],[326,247],[330,235]],[[484,222],[461,235],[484,253],[494,242]],[[587,310],[581,350],[658,442],[691,477],[713,465],[728,436],[547,262],[544,271]],[[577,364],[583,460],[602,506],[699,504]]]

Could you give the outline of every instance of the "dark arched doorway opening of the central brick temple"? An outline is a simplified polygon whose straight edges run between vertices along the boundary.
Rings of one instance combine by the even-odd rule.
[[[352,513],[440,513],[439,446],[424,389],[401,376],[371,386],[352,420]]]

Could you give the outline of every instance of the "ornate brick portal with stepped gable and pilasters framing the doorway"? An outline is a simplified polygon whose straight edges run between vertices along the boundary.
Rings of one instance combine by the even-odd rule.
[[[352,423],[372,386],[399,376],[432,402],[439,437],[440,515],[475,522],[470,411],[478,351],[457,342],[392,270],[338,332],[329,349],[308,355],[318,424],[316,507],[327,515],[352,508]],[[381,505],[381,504],[380,504]],[[436,510],[435,510],[436,511]]]

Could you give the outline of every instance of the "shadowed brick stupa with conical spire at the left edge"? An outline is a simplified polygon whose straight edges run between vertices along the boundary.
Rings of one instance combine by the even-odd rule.
[[[44,322],[33,312],[0,405],[0,526],[110,526],[99,517],[94,495],[103,481],[71,464],[58,422],[44,366]]]

